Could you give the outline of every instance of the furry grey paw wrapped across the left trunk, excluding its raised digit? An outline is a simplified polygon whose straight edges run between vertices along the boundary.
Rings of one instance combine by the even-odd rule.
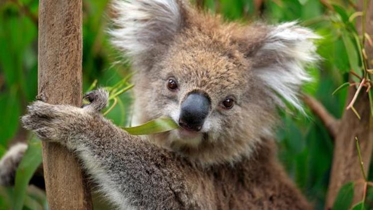
[[[23,126],[40,139],[64,143],[80,123],[89,120],[84,109],[71,105],[50,105],[36,101],[27,106],[28,113],[21,118]]]

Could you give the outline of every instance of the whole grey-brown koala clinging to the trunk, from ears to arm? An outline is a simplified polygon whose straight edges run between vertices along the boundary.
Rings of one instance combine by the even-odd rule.
[[[115,0],[113,44],[137,71],[135,119],[169,116],[180,129],[132,136],[99,110],[35,102],[22,117],[42,140],[76,152],[120,209],[310,209],[276,158],[280,98],[295,107],[310,30],[225,23],[177,0]]]

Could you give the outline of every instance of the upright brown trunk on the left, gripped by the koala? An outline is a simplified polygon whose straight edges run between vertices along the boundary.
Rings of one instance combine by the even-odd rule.
[[[38,93],[50,104],[82,104],[82,0],[39,1]],[[89,188],[76,157],[43,142],[51,210],[90,210]]]

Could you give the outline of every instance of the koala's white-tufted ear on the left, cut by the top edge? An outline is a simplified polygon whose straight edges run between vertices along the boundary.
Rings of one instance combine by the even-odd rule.
[[[114,0],[112,44],[133,62],[159,55],[181,30],[187,5],[183,0]]]

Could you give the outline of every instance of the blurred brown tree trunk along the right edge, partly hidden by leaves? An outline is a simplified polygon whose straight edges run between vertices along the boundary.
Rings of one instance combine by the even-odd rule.
[[[359,1],[359,10],[363,8],[363,0]],[[358,28],[361,29],[361,20],[358,21]],[[367,9],[367,32],[373,34],[373,1]],[[367,55],[373,58],[372,47],[366,47]],[[348,49],[349,50],[349,49]],[[351,49],[353,50],[353,49]],[[347,103],[351,102],[356,89],[350,88]],[[326,209],[333,207],[334,200],[339,189],[347,182],[363,178],[360,170],[360,163],[356,149],[355,136],[359,138],[365,172],[368,173],[373,148],[373,118],[370,113],[368,94],[362,90],[355,108],[361,115],[357,118],[352,110],[347,110],[342,116],[338,127],[338,134],[335,138],[334,157],[330,175],[329,190],[326,199]],[[354,204],[363,198],[363,184],[355,186]]]

